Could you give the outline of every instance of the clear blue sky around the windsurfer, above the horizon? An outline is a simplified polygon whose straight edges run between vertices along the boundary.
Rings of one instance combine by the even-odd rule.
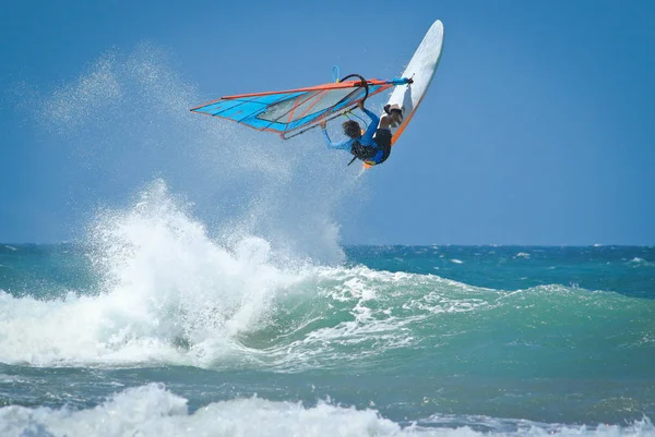
[[[390,160],[358,182],[364,206],[357,194],[340,201],[342,242],[655,244],[654,2],[343,4],[8,4],[0,17],[0,241],[74,239],[94,208],[124,204],[156,175],[193,197],[176,190],[181,172],[166,177],[172,155],[147,172],[98,180],[71,153],[80,135],[35,122],[34,96],[75,83],[103,53],[130,53],[143,41],[160,48],[176,81],[202,104],[330,82],[334,64],[344,74],[396,76],[440,19],[445,43],[434,82]],[[108,124],[106,137],[127,124],[140,129]],[[240,134],[229,132],[231,141]],[[320,138],[311,141],[324,151]],[[270,147],[287,146],[271,138]],[[353,178],[343,165],[334,160],[334,171]]]

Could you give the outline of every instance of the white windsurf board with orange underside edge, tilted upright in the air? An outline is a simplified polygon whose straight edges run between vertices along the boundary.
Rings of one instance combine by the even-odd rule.
[[[393,134],[391,144],[395,144],[398,137],[407,128],[409,121],[416,113],[418,106],[432,82],[439,60],[441,58],[441,48],[443,47],[443,23],[437,20],[431,26],[422,41],[416,49],[407,68],[401,77],[410,77],[414,83],[410,85],[400,85],[394,88],[389,98],[389,105],[398,105],[403,108],[403,122],[391,129]],[[382,113],[384,117],[386,113]]]

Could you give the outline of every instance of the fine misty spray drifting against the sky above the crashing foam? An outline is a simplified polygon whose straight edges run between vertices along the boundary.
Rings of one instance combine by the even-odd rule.
[[[282,141],[189,111],[212,97],[150,44],[112,49],[70,83],[27,95],[69,159],[57,181],[66,183],[66,214],[74,216],[61,220],[69,231],[83,239],[98,208],[126,207],[160,180],[193,204],[213,236],[259,235],[290,262],[343,262],[336,217],[361,211],[370,197],[366,179],[325,150],[318,134]]]

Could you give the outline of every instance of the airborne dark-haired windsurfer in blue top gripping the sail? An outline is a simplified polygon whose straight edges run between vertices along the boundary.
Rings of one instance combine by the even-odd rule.
[[[371,166],[382,163],[391,154],[390,128],[402,122],[402,110],[397,105],[385,107],[384,110],[388,116],[382,117],[382,120],[380,120],[378,116],[364,107],[362,101],[358,102],[357,106],[371,119],[364,135],[361,134],[359,123],[354,120],[348,120],[343,123],[343,128],[344,133],[349,139],[333,143],[325,129],[326,122],[322,121],[321,130],[323,131],[325,144],[327,145],[327,148],[349,150],[350,154],[355,156],[353,160],[361,159],[364,162]],[[379,129],[378,124],[380,124]],[[350,163],[353,163],[353,161],[350,161]]]

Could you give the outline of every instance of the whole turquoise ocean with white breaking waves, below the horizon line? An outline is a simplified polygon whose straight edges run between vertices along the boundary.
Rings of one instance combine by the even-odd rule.
[[[655,435],[653,247],[170,232],[0,245],[1,436]]]

